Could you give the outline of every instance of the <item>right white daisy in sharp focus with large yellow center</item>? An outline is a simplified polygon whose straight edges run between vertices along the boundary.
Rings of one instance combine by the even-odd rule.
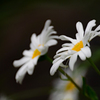
[[[62,48],[56,52],[54,56],[53,65],[50,69],[50,74],[54,75],[59,66],[62,66],[62,62],[69,58],[69,67],[71,70],[74,68],[74,64],[79,56],[81,60],[91,57],[91,50],[89,48],[89,41],[93,38],[93,33],[97,33],[99,26],[96,30],[92,31],[92,27],[95,26],[95,20],[88,23],[84,32],[81,22],[76,23],[76,39],[61,35],[60,39],[70,41],[71,43],[65,43]],[[98,32],[99,34],[99,32]]]

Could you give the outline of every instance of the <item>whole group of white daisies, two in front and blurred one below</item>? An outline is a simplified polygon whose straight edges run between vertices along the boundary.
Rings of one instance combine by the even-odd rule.
[[[57,40],[61,39],[64,41],[68,41],[62,45],[62,48],[56,52],[54,56],[53,65],[50,69],[50,74],[54,75],[57,69],[61,67],[67,67],[71,70],[67,70],[70,76],[72,76],[73,80],[79,85],[82,85],[82,80],[80,75],[85,72],[82,70],[75,70],[73,72],[75,62],[77,61],[77,57],[79,56],[81,60],[86,60],[86,58],[91,57],[91,50],[89,42],[96,36],[100,36],[100,25],[93,30],[92,28],[96,25],[96,20],[91,20],[87,26],[85,31],[83,30],[83,25],[81,22],[76,23],[76,39],[71,37],[61,35],[57,36],[56,31],[54,31],[53,26],[50,26],[51,21],[47,20],[42,30],[41,34],[36,36],[34,33],[31,37],[30,50],[23,51],[23,58],[20,60],[15,60],[13,65],[15,67],[21,68],[18,70],[16,74],[16,82],[22,83],[24,76],[26,73],[29,75],[33,74],[35,65],[38,62],[38,59],[41,55],[45,55],[50,46],[56,45]],[[69,64],[63,64],[63,62],[69,59]],[[73,83],[69,81],[57,80],[55,89],[59,91],[55,91],[51,94],[50,100],[77,100],[78,91],[73,85]]]

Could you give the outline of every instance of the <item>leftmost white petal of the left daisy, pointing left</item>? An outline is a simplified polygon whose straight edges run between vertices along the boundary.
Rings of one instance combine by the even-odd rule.
[[[14,65],[15,67],[19,67],[19,66],[23,65],[24,63],[27,63],[30,59],[31,59],[31,58],[29,58],[29,57],[23,57],[23,58],[21,58],[21,59],[19,59],[19,60],[15,60],[15,61],[13,62],[13,65]]]

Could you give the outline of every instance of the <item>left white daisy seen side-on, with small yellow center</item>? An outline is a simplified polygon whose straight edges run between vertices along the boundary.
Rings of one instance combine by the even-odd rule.
[[[17,82],[22,83],[26,73],[32,75],[39,57],[47,53],[49,46],[57,44],[55,38],[58,38],[58,36],[52,35],[56,34],[56,31],[53,30],[53,26],[50,26],[50,23],[50,20],[46,21],[40,35],[36,36],[35,33],[32,35],[30,50],[24,50],[24,57],[13,62],[15,67],[21,66],[15,77]]]

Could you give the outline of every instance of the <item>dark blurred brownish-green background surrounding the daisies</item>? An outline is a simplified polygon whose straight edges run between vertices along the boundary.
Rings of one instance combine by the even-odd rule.
[[[48,100],[52,81],[58,77],[57,73],[50,76],[51,63],[46,60],[39,62],[34,74],[31,76],[27,74],[21,85],[15,80],[18,68],[12,65],[14,60],[22,57],[23,50],[29,49],[32,33],[40,34],[47,19],[52,20],[51,25],[58,35],[75,38],[77,21],[81,21],[84,28],[92,19],[96,19],[97,25],[100,24],[100,0],[1,0],[1,95],[11,97],[13,100]],[[48,55],[51,58],[61,44],[62,42],[59,41],[57,46],[50,47]],[[100,38],[97,37],[91,44],[94,54],[93,51],[100,46]],[[100,77],[90,68],[86,78],[88,84],[100,96]]]

